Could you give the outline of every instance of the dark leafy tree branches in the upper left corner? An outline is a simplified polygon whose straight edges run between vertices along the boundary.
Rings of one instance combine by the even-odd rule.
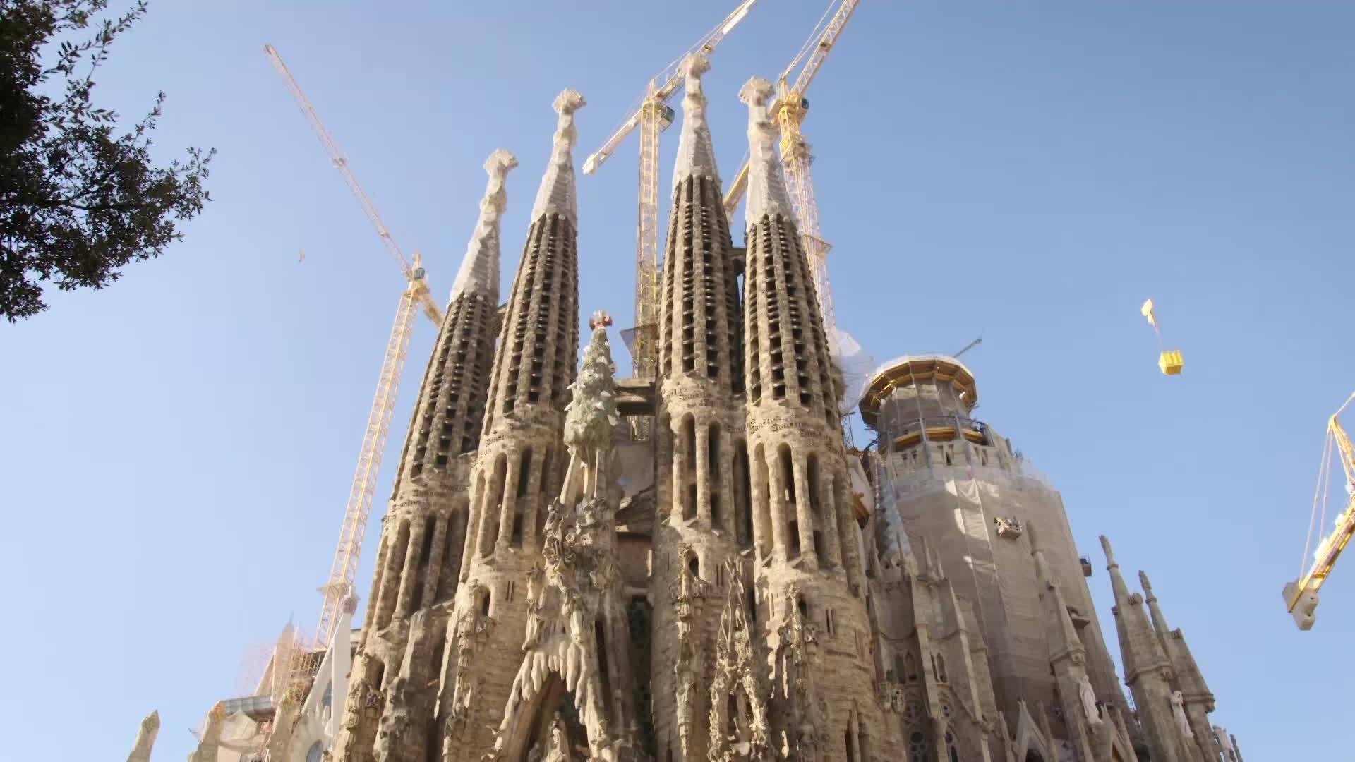
[[[96,20],[107,0],[0,0],[0,315],[47,308],[43,287],[100,289],[129,262],[183,237],[178,225],[209,201],[215,149],[190,148],[156,167],[150,133],[164,94],[142,119],[93,106],[93,75],[145,1]]]

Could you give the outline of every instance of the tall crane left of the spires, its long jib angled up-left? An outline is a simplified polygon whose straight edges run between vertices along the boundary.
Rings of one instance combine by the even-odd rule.
[[[377,229],[377,235],[385,244],[386,251],[394,258],[400,273],[405,277],[406,286],[400,294],[400,304],[396,309],[396,324],[390,329],[390,340],[386,342],[386,355],[381,362],[381,376],[377,380],[377,396],[371,403],[371,412],[367,415],[367,427],[362,435],[362,450],[358,453],[358,469],[352,477],[352,487],[348,491],[348,503],[344,507],[343,526],[339,530],[339,546],[335,549],[333,563],[329,567],[329,579],[320,593],[325,601],[320,609],[320,626],[316,629],[316,644],[313,651],[324,651],[333,639],[333,629],[339,621],[343,599],[352,591],[354,578],[358,574],[358,559],[362,555],[362,540],[367,530],[367,515],[371,513],[371,498],[377,489],[377,475],[381,470],[381,456],[386,450],[386,435],[390,433],[390,415],[396,407],[396,393],[400,390],[400,374],[405,366],[405,354],[409,351],[409,334],[415,324],[415,306],[423,308],[428,320],[435,325],[442,325],[442,309],[428,293],[424,282],[424,268],[420,266],[419,255],[413,262],[405,259],[400,247],[396,245],[386,224],[381,221],[377,207],[363,193],[358,179],[348,168],[348,160],[339,145],[329,137],[329,130],[320,121],[320,115],[310,106],[306,94],[301,91],[295,77],[282,62],[278,50],[272,45],[263,46],[274,68],[282,75],[283,83],[297,100],[310,127],[316,132],[325,153],[333,161],[335,168],[343,175],[348,190],[358,199],[367,220]]]

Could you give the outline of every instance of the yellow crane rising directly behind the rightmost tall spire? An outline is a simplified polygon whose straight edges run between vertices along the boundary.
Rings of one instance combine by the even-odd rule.
[[[818,205],[814,202],[814,183],[809,175],[809,164],[813,161],[809,141],[799,132],[799,123],[805,121],[809,111],[809,100],[805,91],[809,89],[818,69],[822,68],[828,53],[837,45],[837,38],[851,19],[852,12],[860,0],[841,0],[836,9],[829,9],[814,27],[813,34],[799,49],[799,53],[790,61],[790,65],[780,73],[776,81],[776,99],[772,102],[770,113],[776,114],[776,127],[780,130],[780,161],[786,175],[786,190],[790,191],[790,202],[795,209],[799,237],[809,259],[809,267],[814,277],[814,290],[818,294],[818,305],[824,315],[824,332],[829,342],[836,342],[833,317],[833,297],[828,287],[828,249],[832,248],[822,239],[818,226]],[[801,66],[799,73],[791,77],[791,72]],[[733,217],[738,201],[748,190],[748,163],[738,169],[733,184],[725,193],[725,213]]]

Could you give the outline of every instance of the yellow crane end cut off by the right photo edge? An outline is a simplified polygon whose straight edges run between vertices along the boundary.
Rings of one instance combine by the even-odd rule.
[[[1341,428],[1339,416],[1347,405],[1355,401],[1355,393],[1347,397],[1332,418],[1327,420],[1327,445],[1322,447],[1322,465],[1317,472],[1317,489],[1313,491],[1313,515],[1308,521],[1308,541],[1304,544],[1304,560],[1299,565],[1299,576],[1285,586],[1285,605],[1289,613],[1298,622],[1298,629],[1312,629],[1317,621],[1317,590],[1332,574],[1336,559],[1346,549],[1346,544],[1355,536],[1355,447],[1351,438]],[[1341,461],[1341,470],[1346,476],[1346,510],[1336,517],[1336,526],[1332,533],[1322,537],[1317,544],[1317,553],[1313,555],[1313,565],[1308,565],[1308,550],[1312,548],[1313,532],[1327,522],[1327,495],[1332,476],[1332,457]],[[1304,571],[1304,569],[1308,571]]]

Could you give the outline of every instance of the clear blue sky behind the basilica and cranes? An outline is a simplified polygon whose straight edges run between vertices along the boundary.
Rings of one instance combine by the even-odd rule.
[[[157,148],[217,146],[214,201],[164,258],[0,325],[9,757],[117,758],[159,708],[156,758],[180,758],[247,652],[314,626],[401,279],[262,46],[444,298],[489,152],[522,161],[507,283],[554,95],[588,98],[581,161],[733,4],[152,3],[96,98],[131,119],[164,89]],[[763,0],[717,52],[726,176],[740,84],[825,5]],[[1308,633],[1279,590],[1355,388],[1352,27],[1344,3],[867,0],[805,122],[839,324],[881,359],[982,334],[977,415],[1062,491],[1107,630],[1100,533],[1152,575],[1257,761],[1348,754],[1355,568]],[[667,197],[676,129],[664,142]],[[584,317],[627,323],[637,151],[580,178]],[[1146,297],[1180,377],[1157,372]],[[362,594],[432,338],[421,321]]]

